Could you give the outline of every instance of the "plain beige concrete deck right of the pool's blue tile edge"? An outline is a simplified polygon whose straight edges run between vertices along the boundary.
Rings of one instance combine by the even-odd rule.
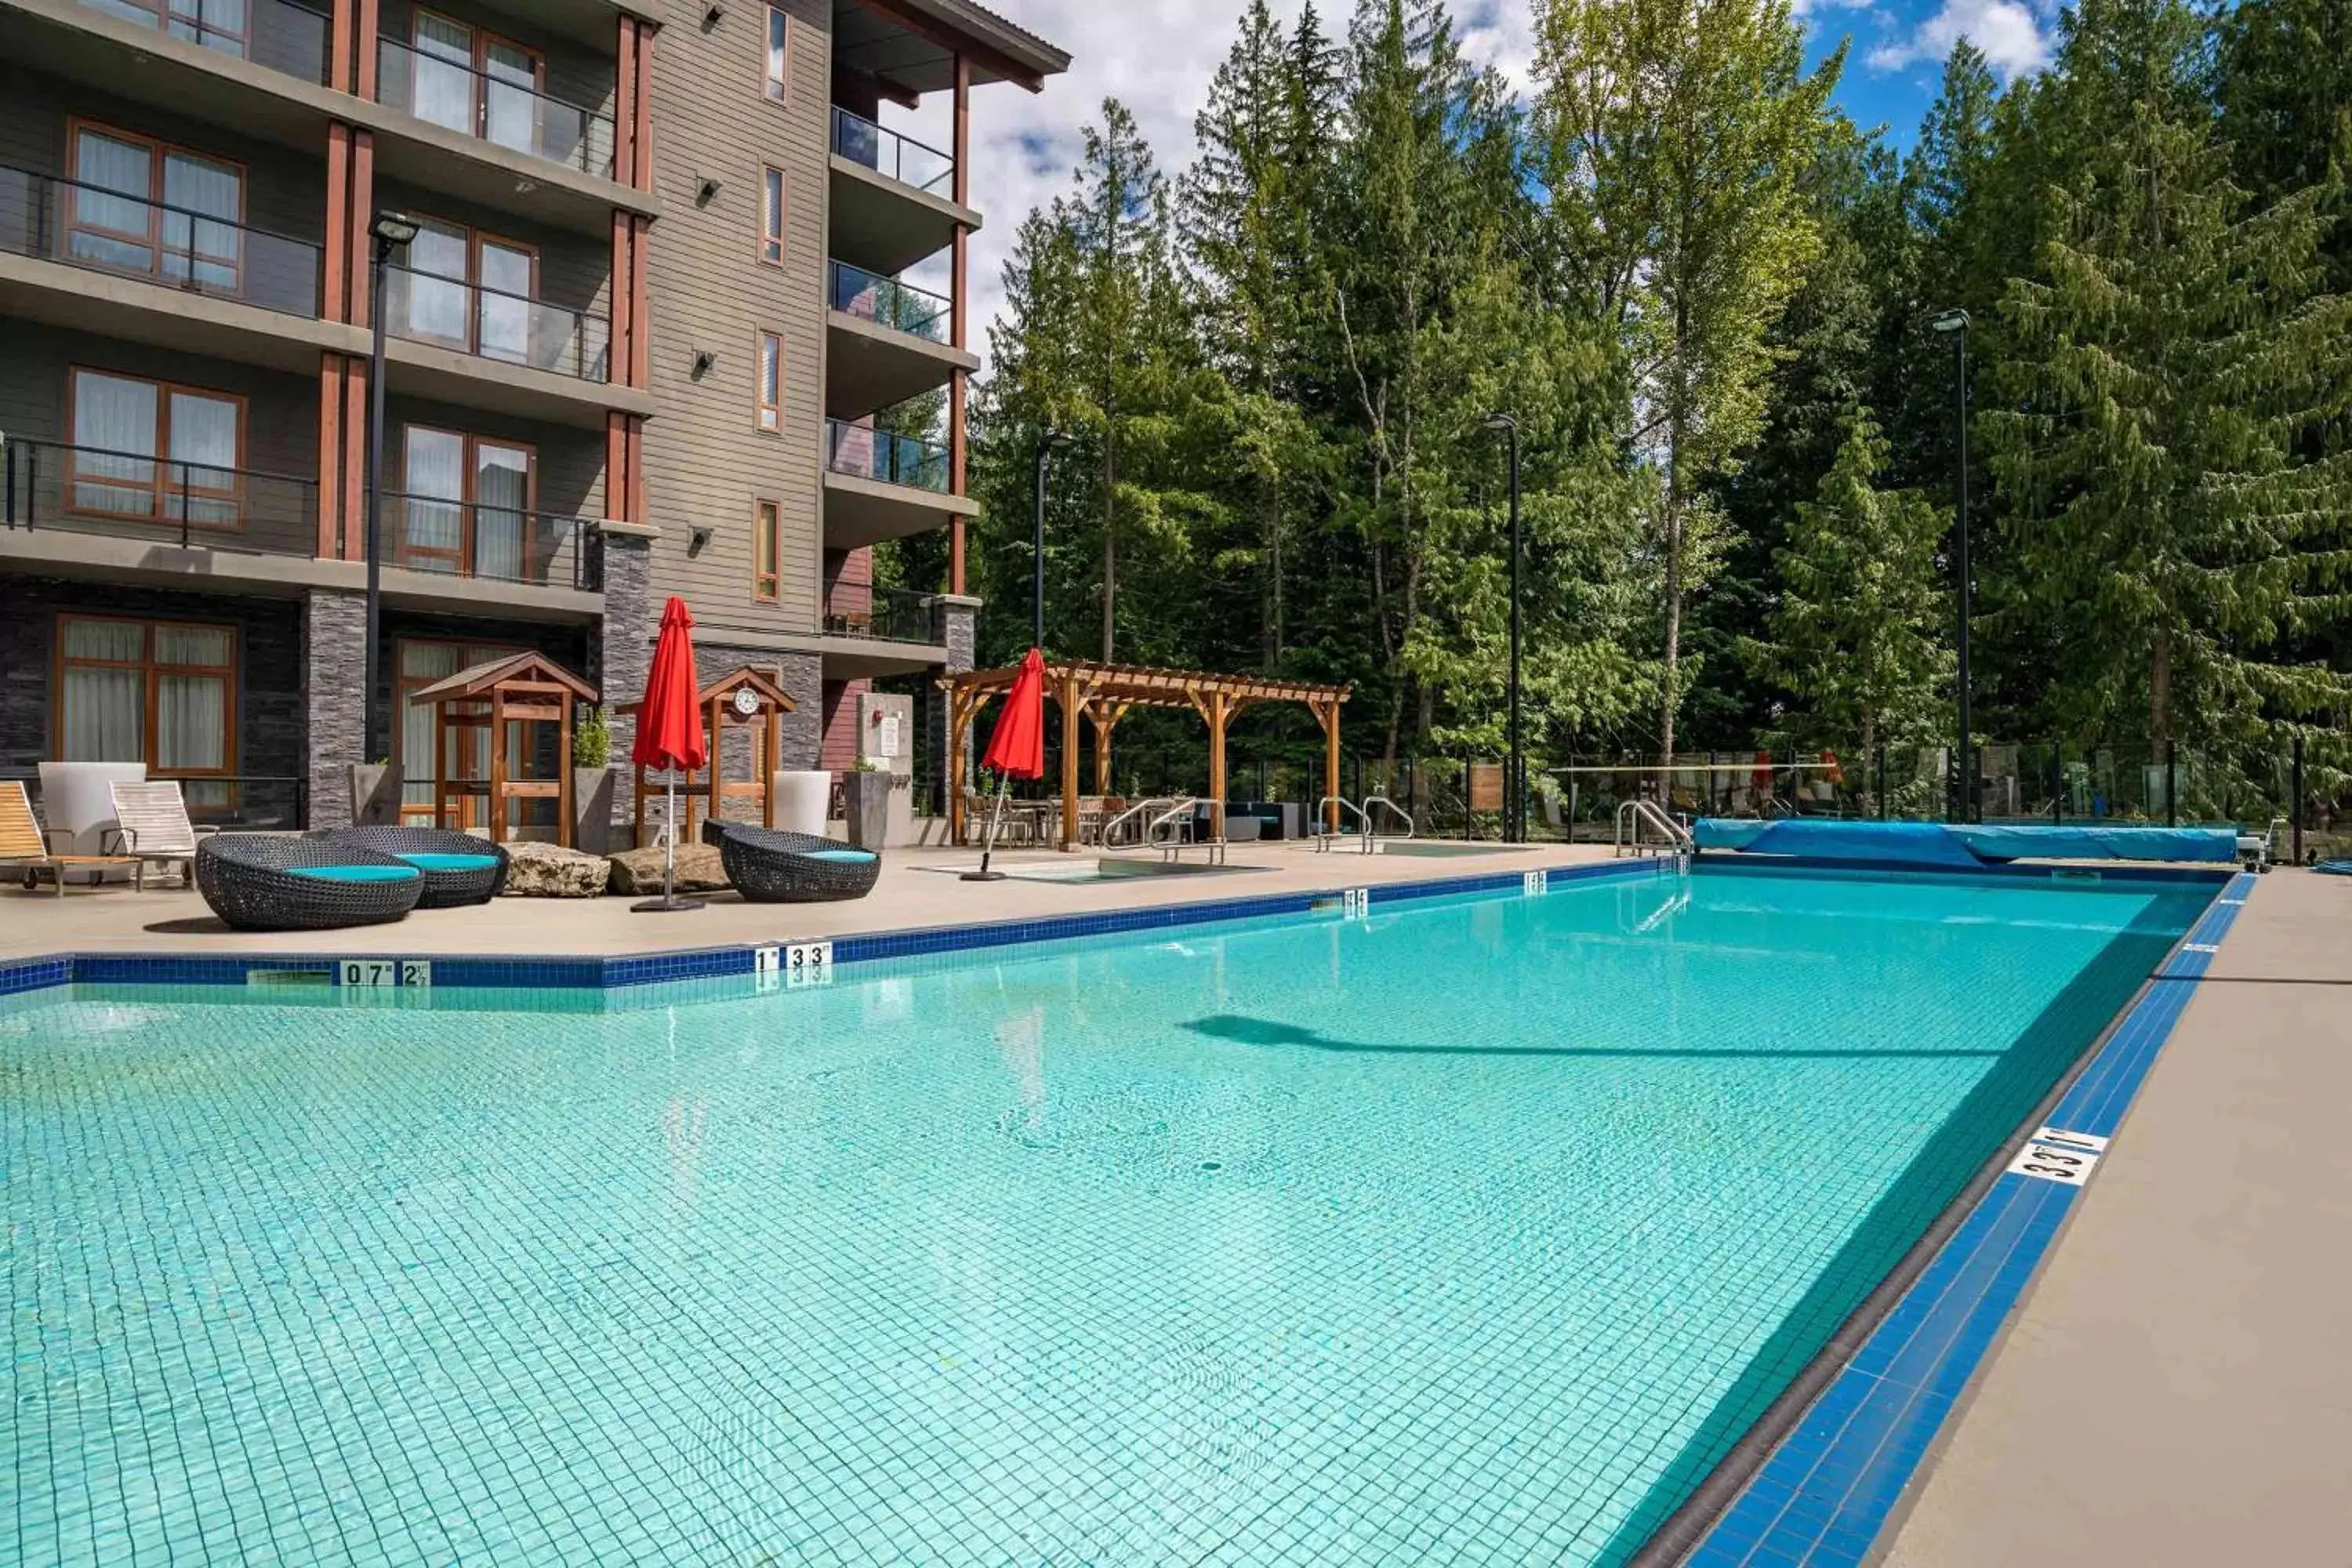
[[[2347,1107],[2352,877],[2272,872],[1882,1566],[2352,1561]]]

